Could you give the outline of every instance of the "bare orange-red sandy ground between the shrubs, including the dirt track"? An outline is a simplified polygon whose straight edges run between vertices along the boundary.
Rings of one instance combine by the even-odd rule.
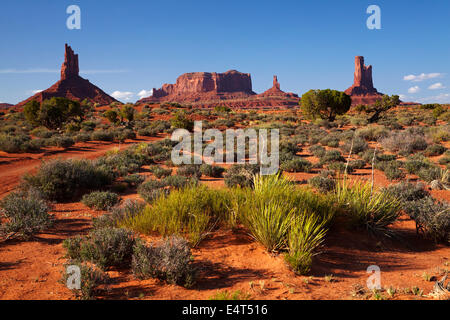
[[[154,139],[143,138],[141,141]],[[121,145],[126,147],[136,141]],[[0,153],[0,198],[20,182],[20,177],[33,172],[40,162],[50,158],[87,158],[102,156],[118,148],[114,143],[77,144],[66,152],[52,149],[41,154],[12,155]],[[306,155],[305,155],[306,156]],[[313,157],[310,157],[314,161]],[[298,181],[314,174],[296,173]],[[371,170],[358,170],[355,177],[370,179]],[[414,178],[414,177],[413,177]],[[221,179],[205,179],[211,187],[222,187]],[[385,186],[388,181],[376,172],[375,182]],[[448,191],[433,192],[439,199],[449,201]],[[129,192],[124,198],[136,198]],[[52,214],[55,226],[33,241],[0,243],[0,299],[74,299],[60,283],[64,250],[62,241],[86,233],[92,218],[103,214],[83,204],[56,204]],[[219,229],[193,250],[200,269],[198,283],[191,289],[167,285],[157,280],[138,281],[129,271],[111,271],[112,283],[103,299],[208,299],[218,291],[240,290],[253,299],[355,299],[352,287],[365,286],[370,265],[381,268],[382,286],[393,287],[393,299],[427,299],[405,289],[418,287],[428,294],[434,282],[449,269],[450,248],[418,238],[414,222],[403,217],[394,226],[404,241],[371,238],[364,232],[346,229],[330,230],[323,253],[313,266],[310,277],[296,276],[284,263],[282,256],[273,256],[253,241],[245,230]],[[330,277],[332,275],[332,277]],[[386,294],[385,294],[386,296]]]

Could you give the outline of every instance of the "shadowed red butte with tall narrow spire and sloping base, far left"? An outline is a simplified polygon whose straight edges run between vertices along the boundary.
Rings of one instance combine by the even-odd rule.
[[[53,86],[20,102],[16,107],[22,107],[32,100],[42,102],[53,97],[68,98],[71,100],[88,100],[99,105],[108,105],[117,100],[96,87],[87,79],[79,75],[78,55],[66,44],[64,63],[61,67],[61,80]]]

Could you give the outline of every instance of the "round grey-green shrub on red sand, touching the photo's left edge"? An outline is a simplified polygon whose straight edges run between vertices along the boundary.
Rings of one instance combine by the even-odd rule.
[[[0,231],[9,236],[17,235],[29,239],[51,227],[54,222],[48,213],[50,207],[34,190],[11,193],[0,202],[0,207],[0,212],[6,218],[6,223],[1,225]]]

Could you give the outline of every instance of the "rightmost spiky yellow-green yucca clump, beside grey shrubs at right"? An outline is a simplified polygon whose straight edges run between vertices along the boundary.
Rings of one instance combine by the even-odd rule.
[[[373,189],[370,182],[346,180],[337,183],[335,199],[338,207],[348,215],[352,225],[365,227],[371,232],[392,234],[387,229],[400,216],[400,201],[384,190]]]

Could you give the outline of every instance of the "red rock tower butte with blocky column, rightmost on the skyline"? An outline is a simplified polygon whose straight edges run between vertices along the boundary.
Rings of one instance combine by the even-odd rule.
[[[372,66],[364,65],[364,57],[355,58],[355,76],[353,85],[345,90],[352,97],[352,104],[372,104],[383,97],[373,86]]]

